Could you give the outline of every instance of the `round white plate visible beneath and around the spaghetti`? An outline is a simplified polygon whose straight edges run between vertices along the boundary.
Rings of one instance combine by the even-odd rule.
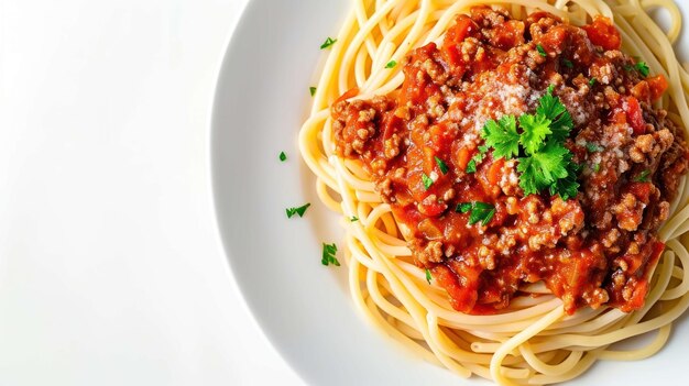
[[[321,242],[341,244],[341,232],[315,195],[296,139],[326,54],[319,45],[348,11],[347,0],[253,0],[234,32],[211,143],[217,216],[234,279],[270,341],[309,384],[488,385],[381,335],[357,313],[346,268],[320,264]],[[285,208],[305,202],[311,207],[304,218],[286,218]],[[683,374],[687,346],[685,316],[658,355],[599,363],[570,385],[670,384]]]

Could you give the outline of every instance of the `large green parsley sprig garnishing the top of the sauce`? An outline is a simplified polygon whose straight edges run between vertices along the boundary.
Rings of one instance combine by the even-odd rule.
[[[518,121],[521,130],[514,115],[485,122],[481,136],[493,148],[493,158],[517,158],[525,196],[543,190],[564,200],[577,196],[580,167],[564,145],[573,123],[559,98],[553,96],[553,86],[540,97],[536,113],[522,114]]]

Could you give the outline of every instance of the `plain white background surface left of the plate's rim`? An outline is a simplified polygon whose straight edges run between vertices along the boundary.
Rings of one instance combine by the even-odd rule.
[[[0,0],[0,385],[299,385],[216,230],[247,0]]]

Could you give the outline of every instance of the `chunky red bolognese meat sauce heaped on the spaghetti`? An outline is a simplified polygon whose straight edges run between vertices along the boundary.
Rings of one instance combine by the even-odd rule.
[[[620,46],[605,18],[578,27],[546,12],[520,21],[474,8],[401,64],[401,89],[347,100],[354,90],[331,107],[337,153],[362,162],[416,264],[458,311],[496,312],[537,282],[569,313],[643,306],[688,150],[653,107],[666,79]],[[572,197],[525,194],[520,158],[486,151],[482,134],[549,92],[571,117],[562,145]]]

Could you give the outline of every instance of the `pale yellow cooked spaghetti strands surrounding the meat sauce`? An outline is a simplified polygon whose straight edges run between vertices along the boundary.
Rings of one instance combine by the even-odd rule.
[[[643,307],[626,313],[616,308],[581,307],[571,315],[562,300],[543,283],[520,288],[521,296],[494,315],[455,310],[446,290],[427,280],[414,263],[407,241],[381,200],[374,183],[358,161],[335,152],[330,103],[357,89],[354,99],[370,99],[400,89],[400,67],[416,47],[440,42],[458,14],[474,5],[500,4],[523,20],[536,10],[575,25],[597,15],[614,20],[623,49],[646,60],[653,74],[669,79],[668,92],[656,101],[669,117],[689,124],[686,92],[689,74],[677,63],[672,43],[681,26],[677,7],[669,1],[354,1],[354,10],[337,36],[318,84],[309,119],[299,133],[304,159],[317,175],[317,191],[327,207],[342,213],[349,284],[359,310],[397,341],[469,377],[500,384],[551,384],[571,379],[597,360],[639,360],[663,348],[671,322],[689,307],[689,189],[679,181],[669,219],[658,231],[666,244]],[[664,32],[648,16],[649,8],[669,11]],[[356,218],[358,221],[351,221]],[[655,332],[643,348],[616,351],[611,345],[631,337]]]

